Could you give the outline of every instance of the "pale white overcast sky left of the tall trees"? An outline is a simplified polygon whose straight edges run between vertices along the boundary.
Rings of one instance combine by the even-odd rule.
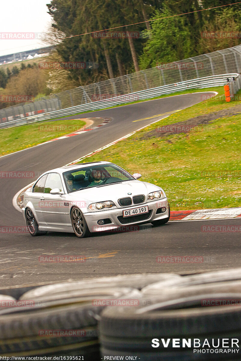
[[[50,2],[51,0],[1,0],[0,33],[46,32],[51,26],[46,6]],[[46,46],[39,39],[3,39],[8,36],[0,34],[0,56]]]

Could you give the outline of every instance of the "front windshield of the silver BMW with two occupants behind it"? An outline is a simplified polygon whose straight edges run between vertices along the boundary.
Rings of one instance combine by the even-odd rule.
[[[126,170],[115,164],[77,168],[63,173],[68,193],[84,188],[135,180]]]

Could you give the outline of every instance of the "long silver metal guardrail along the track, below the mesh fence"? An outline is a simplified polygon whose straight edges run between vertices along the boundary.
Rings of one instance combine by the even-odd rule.
[[[152,89],[141,90],[134,93],[129,93],[117,97],[113,97],[111,99],[99,100],[90,102],[87,104],[81,104],[77,106],[72,106],[71,108],[60,109],[50,113],[42,113],[35,116],[30,116],[22,119],[17,119],[13,121],[9,121],[6,123],[0,124],[0,129],[9,128],[14,126],[19,126],[28,123],[40,122],[49,119],[56,119],[57,117],[65,117],[72,115],[74,113],[85,112],[89,110],[99,110],[109,108],[115,105],[121,105],[125,103],[129,103],[131,101],[137,100],[145,100],[154,98],[157,96],[175,93],[177,91],[182,91],[186,89],[194,89],[194,88],[208,88],[215,86],[223,86],[227,84],[227,78],[234,77],[235,84],[233,83],[232,93],[235,94],[241,88],[241,76],[238,73],[229,73],[229,74],[220,74],[220,75],[212,75],[210,77],[191,79],[179,83],[168,84]]]

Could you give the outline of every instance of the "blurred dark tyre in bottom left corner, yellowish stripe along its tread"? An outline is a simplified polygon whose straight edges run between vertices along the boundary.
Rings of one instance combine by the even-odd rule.
[[[81,305],[80,303],[0,316],[0,355],[32,356],[37,353],[48,355],[61,350],[69,350],[68,355],[73,355],[72,352],[75,352],[75,349],[79,349],[81,354],[82,347],[86,347],[86,352],[88,349],[91,351],[93,346],[99,344],[97,331],[94,332],[96,336],[75,337],[41,336],[39,332],[41,330],[97,330],[95,315],[101,310],[101,307],[94,308],[91,304]]]

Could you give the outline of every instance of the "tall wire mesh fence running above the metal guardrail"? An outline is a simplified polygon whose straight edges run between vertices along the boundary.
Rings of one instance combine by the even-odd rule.
[[[211,75],[241,73],[241,45],[156,65],[154,68],[51,94],[30,103],[0,109],[0,124],[168,84]]]

